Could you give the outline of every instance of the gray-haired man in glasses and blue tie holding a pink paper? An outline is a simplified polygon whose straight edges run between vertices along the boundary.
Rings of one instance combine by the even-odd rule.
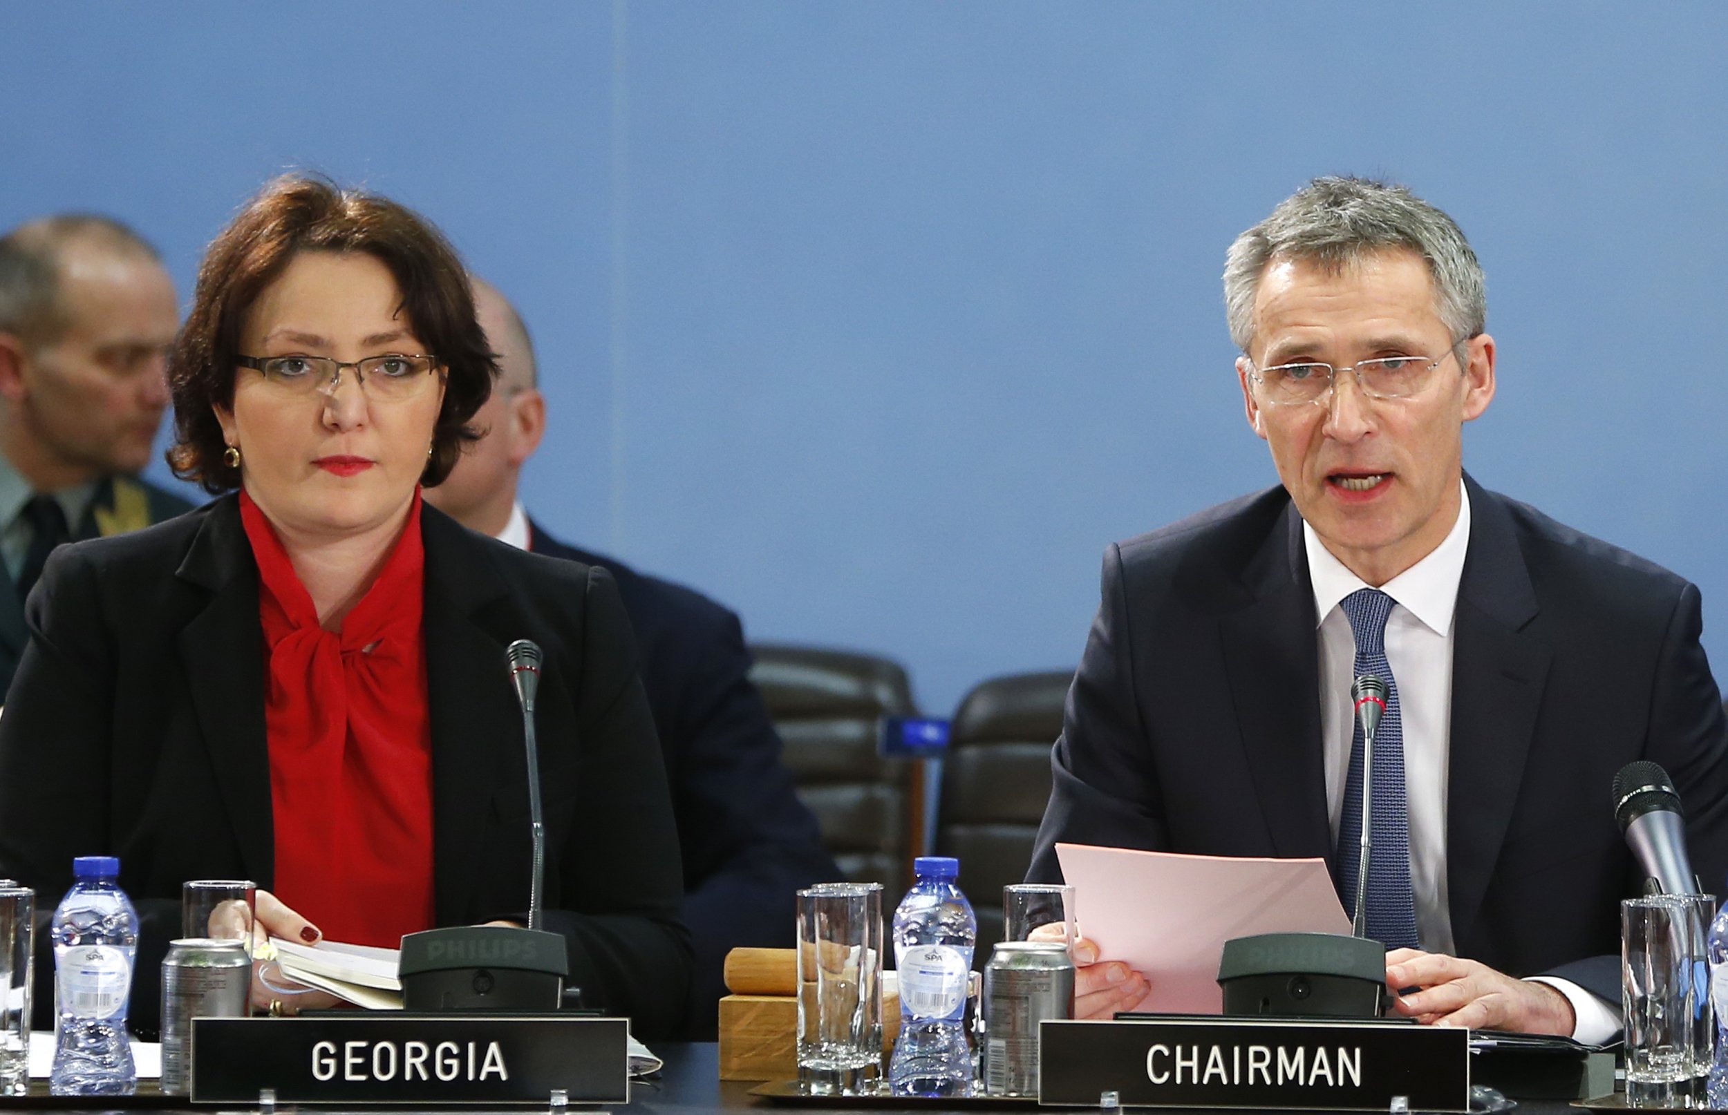
[[[1642,884],[1616,772],[1664,766],[1692,861],[1728,870],[1699,590],[1464,473],[1495,395],[1483,273],[1403,186],[1308,183],[1230,247],[1225,306],[1280,485],[1106,551],[1030,877],[1059,877],[1058,841],[1317,856],[1355,913],[1374,673],[1363,917],[1396,1010],[1605,1041]],[[1077,951],[1078,1013],[1146,999]]]

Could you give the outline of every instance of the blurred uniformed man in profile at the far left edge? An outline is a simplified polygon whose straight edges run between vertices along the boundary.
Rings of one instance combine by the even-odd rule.
[[[0,236],[0,697],[55,545],[192,507],[135,476],[178,324],[161,257],[119,221],[60,214]]]

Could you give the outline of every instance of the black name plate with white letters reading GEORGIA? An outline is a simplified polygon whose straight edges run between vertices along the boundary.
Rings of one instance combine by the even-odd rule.
[[[627,1018],[589,1015],[194,1018],[192,1101],[626,1103],[627,1043]]]

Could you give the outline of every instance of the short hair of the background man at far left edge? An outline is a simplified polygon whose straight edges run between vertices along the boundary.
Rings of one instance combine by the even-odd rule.
[[[0,333],[28,343],[59,337],[67,324],[59,304],[60,255],[76,240],[162,262],[149,240],[114,217],[64,212],[19,224],[0,236]]]

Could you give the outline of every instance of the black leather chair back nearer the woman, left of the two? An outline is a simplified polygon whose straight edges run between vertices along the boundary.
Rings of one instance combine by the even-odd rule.
[[[886,918],[911,885],[923,827],[914,765],[881,756],[883,716],[916,716],[905,670],[885,658],[798,646],[752,646],[750,680],[785,740],[798,797],[852,882],[883,885]]]

